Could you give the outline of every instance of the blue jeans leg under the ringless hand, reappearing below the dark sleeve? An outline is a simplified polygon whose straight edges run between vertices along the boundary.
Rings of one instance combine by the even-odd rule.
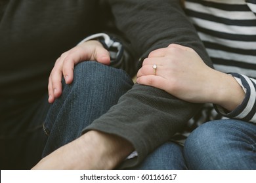
[[[45,120],[47,156],[60,146],[77,139],[93,120],[115,105],[133,86],[133,80],[120,69],[95,61],[76,65],[72,84],[63,84],[63,93],[54,101]],[[168,142],[152,152],[135,169],[185,169],[182,148]]]

